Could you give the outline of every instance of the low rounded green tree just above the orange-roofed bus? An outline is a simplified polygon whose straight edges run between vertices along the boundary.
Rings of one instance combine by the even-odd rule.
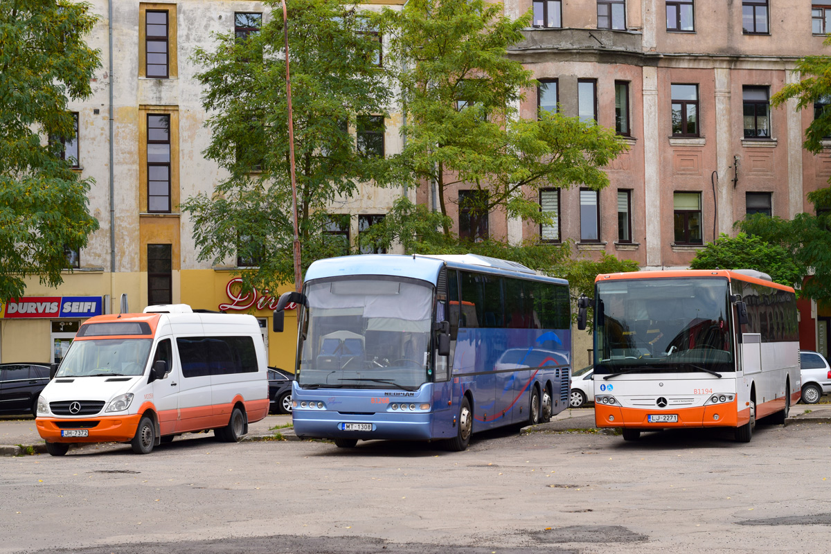
[[[770,275],[774,282],[794,287],[802,282],[803,272],[790,252],[777,244],[766,243],[757,235],[721,233],[713,243],[696,252],[691,269],[755,269]]]

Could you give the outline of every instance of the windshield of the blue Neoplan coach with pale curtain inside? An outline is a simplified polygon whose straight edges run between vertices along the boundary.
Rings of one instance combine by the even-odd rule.
[[[430,380],[428,283],[351,277],[312,282],[306,296],[298,385],[416,390]]]

